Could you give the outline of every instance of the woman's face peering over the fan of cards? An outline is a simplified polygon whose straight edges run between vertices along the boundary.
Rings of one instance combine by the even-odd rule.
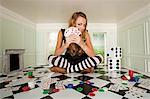
[[[76,27],[79,29],[79,31],[83,32],[86,27],[86,19],[79,16],[76,20]]]

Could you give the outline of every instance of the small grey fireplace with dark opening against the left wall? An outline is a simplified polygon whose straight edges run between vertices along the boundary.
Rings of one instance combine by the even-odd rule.
[[[6,49],[3,56],[3,72],[9,73],[23,69],[24,52],[25,49]]]

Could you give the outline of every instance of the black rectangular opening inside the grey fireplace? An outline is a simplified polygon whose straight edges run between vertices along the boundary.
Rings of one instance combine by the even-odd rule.
[[[10,71],[19,69],[19,54],[10,54]]]

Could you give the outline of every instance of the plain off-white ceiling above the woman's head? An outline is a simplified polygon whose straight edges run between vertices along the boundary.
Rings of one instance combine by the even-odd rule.
[[[83,11],[91,23],[116,23],[150,0],[0,0],[1,5],[35,23],[63,23]]]

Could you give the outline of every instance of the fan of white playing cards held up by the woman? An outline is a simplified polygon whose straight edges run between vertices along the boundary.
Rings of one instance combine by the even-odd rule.
[[[70,27],[70,28],[65,30],[64,36],[68,37],[71,34],[75,34],[75,35],[79,36],[81,34],[81,32],[76,27]]]

